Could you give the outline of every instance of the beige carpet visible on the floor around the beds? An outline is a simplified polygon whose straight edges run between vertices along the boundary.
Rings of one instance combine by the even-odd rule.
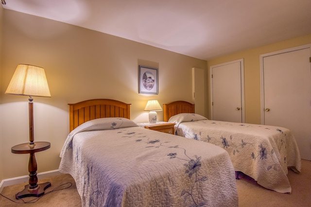
[[[311,207],[311,161],[302,160],[301,173],[289,170],[288,178],[292,186],[291,194],[264,189],[249,177],[242,176],[242,179],[237,180],[239,207]],[[52,186],[46,190],[45,195],[31,204],[20,204],[22,201],[15,199],[15,194],[23,190],[25,184],[5,187],[1,194],[18,204],[0,196],[0,207],[81,207],[80,196],[69,174],[39,180],[39,183],[44,182],[51,182]],[[72,183],[72,186],[69,187],[70,184],[66,183]],[[27,202],[33,199],[35,197],[23,200]]]

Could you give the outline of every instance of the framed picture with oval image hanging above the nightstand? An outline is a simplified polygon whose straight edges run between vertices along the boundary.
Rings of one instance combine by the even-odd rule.
[[[139,93],[158,94],[158,69],[139,66]]]

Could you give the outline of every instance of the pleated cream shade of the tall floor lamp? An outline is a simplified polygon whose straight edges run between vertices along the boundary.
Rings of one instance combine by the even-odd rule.
[[[51,97],[44,69],[37,66],[19,64],[14,72],[6,94]]]

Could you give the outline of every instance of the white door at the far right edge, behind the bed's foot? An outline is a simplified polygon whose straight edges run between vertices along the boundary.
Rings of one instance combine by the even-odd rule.
[[[311,160],[310,45],[262,55],[261,123],[294,134],[302,159]]]

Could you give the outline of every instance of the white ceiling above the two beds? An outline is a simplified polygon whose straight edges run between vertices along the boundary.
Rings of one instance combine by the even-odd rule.
[[[5,9],[203,60],[311,34],[311,0],[5,1]]]

